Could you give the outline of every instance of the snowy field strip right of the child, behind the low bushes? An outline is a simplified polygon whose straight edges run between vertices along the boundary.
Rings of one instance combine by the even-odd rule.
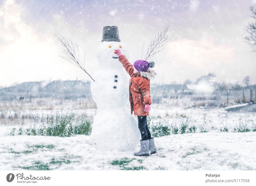
[[[228,112],[226,111],[227,108],[181,108],[156,104],[152,106],[151,115],[174,125],[179,125],[188,118],[189,124],[197,127],[204,124],[207,131],[215,132],[220,132],[224,128],[230,132],[238,127],[239,124],[247,127],[255,127],[256,112],[248,110],[247,104],[239,104],[239,106],[241,105],[244,105],[244,112]],[[253,104],[249,108],[255,109],[256,104]]]

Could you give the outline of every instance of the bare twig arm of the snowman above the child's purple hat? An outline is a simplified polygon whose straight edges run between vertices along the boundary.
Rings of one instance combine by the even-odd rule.
[[[157,35],[153,38],[153,40],[148,45],[148,50],[146,57],[144,60],[149,60],[154,57],[158,52],[162,51],[165,48],[165,44],[168,40],[168,31],[169,31],[170,24],[166,26],[162,31],[158,32]],[[142,48],[143,52],[143,48]]]

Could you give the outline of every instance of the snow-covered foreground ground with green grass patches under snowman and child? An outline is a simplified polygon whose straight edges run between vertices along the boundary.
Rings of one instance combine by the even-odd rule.
[[[158,153],[148,157],[100,151],[89,138],[0,137],[1,170],[256,170],[255,132],[155,138]]]

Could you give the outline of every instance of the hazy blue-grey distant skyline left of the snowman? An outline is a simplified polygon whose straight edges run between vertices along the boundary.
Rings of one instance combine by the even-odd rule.
[[[31,98],[52,99],[92,99],[90,82],[81,80],[52,81],[48,84],[42,82],[24,82],[14,86],[0,88],[0,100],[26,100]]]

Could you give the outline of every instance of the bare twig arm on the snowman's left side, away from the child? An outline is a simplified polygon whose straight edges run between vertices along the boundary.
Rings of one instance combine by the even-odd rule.
[[[54,35],[54,34],[53,34]],[[73,43],[69,38],[64,38],[63,36],[57,36],[59,41],[59,51],[61,54],[59,55],[64,60],[76,65],[80,69],[82,69],[90,78],[94,81],[91,75],[85,70],[85,50],[82,46]],[[84,51],[84,65],[81,63],[79,59],[80,48]]]

